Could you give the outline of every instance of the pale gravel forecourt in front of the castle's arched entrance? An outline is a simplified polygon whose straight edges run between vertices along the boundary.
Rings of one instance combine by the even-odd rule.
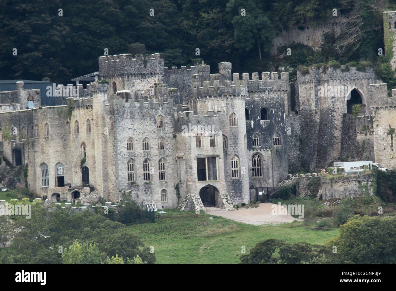
[[[272,205],[276,205],[278,209],[278,215],[272,214]],[[261,203],[256,208],[237,209],[233,211],[227,211],[223,209],[219,210],[208,210],[209,215],[221,216],[234,221],[243,222],[247,224],[262,225],[262,224],[278,224],[278,223],[290,223],[296,219],[291,215],[280,215],[280,210],[284,207],[273,203]],[[286,211],[287,212],[287,211]]]

